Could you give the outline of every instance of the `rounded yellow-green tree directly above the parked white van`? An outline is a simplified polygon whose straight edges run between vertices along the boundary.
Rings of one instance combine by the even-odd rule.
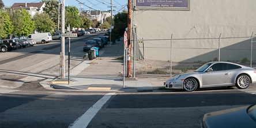
[[[35,22],[37,32],[52,33],[56,27],[55,22],[47,13],[36,13],[32,20]]]

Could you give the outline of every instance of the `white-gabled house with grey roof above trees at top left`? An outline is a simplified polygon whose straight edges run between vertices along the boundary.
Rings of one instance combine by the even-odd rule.
[[[43,7],[46,6],[46,3],[39,2],[39,3],[13,3],[12,8],[13,9],[21,9],[25,8],[29,14],[31,14],[31,17],[33,17],[36,13],[42,13]]]

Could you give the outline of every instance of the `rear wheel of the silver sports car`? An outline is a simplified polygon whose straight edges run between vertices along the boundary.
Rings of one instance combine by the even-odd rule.
[[[250,85],[250,78],[247,75],[242,74],[238,76],[238,78],[236,78],[236,88],[246,89],[248,88],[249,85]]]

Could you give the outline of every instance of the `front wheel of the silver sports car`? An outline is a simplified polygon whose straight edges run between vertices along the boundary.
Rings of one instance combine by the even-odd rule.
[[[194,78],[187,78],[183,82],[183,89],[187,92],[192,92],[197,89],[197,81]]]

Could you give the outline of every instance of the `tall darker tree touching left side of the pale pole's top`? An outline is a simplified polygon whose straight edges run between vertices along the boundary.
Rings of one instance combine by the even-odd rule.
[[[58,24],[58,13],[59,13],[59,1],[58,0],[42,0],[46,3],[46,6],[43,8],[43,11],[51,17],[54,24]]]

